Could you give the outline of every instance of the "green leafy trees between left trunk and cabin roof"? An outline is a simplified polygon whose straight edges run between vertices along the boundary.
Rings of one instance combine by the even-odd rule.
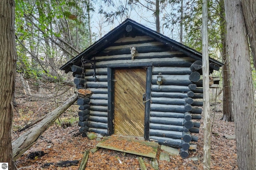
[[[15,3],[17,71],[26,78],[57,79],[59,66],[78,54],[73,49],[89,46],[84,2],[15,0]]]

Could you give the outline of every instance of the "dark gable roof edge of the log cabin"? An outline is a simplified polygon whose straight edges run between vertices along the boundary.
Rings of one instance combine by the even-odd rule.
[[[144,35],[148,35],[149,37],[152,37],[156,39],[157,41],[160,41],[164,43],[165,45],[172,47],[178,51],[181,51],[182,53],[188,55],[189,57],[202,61],[202,53],[183,45],[182,43],[179,43],[173,39],[170,39],[169,37],[166,37],[165,35],[162,35],[148,27],[145,27],[144,25],[141,25],[140,23],[137,23],[134,20],[126,19],[124,22],[122,22],[120,25],[118,25],[116,28],[112,29],[109,33],[104,35],[104,37],[100,38],[98,41],[96,41],[94,44],[92,44],[90,47],[82,51],[80,54],[78,54],[76,57],[68,61],[66,64],[64,64],[62,67],[60,67],[61,70],[65,70],[65,72],[69,72],[71,70],[71,66],[73,64],[78,63],[82,57],[85,57],[86,59],[90,59],[94,54],[96,54],[98,51],[108,47],[111,43],[114,43],[117,39],[120,38],[120,35],[126,31],[126,26],[131,25],[132,31],[138,31]],[[210,62],[210,68],[214,70],[218,70],[220,66],[223,66],[224,64],[212,59],[209,57]]]

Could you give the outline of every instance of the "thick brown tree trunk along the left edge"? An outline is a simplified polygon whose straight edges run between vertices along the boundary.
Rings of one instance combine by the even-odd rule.
[[[16,73],[16,46],[14,34],[14,0],[0,1],[0,162],[12,163],[12,115],[14,78]]]

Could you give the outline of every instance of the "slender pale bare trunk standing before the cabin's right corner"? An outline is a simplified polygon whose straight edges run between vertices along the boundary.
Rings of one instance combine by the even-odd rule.
[[[207,0],[202,5],[202,71],[204,101],[204,170],[210,170],[210,87],[209,87],[209,55],[208,55],[208,6]]]

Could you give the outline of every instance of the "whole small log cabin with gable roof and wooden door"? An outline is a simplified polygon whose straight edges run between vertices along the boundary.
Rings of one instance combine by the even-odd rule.
[[[209,63],[210,73],[223,66]],[[92,91],[77,101],[80,132],[144,137],[186,157],[198,140],[201,67],[198,51],[127,19],[60,69]]]

